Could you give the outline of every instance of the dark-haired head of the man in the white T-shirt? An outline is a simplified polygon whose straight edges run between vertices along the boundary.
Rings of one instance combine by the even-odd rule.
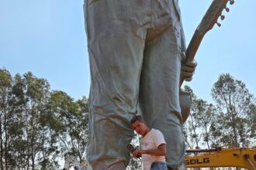
[[[130,124],[132,124],[133,129],[137,132],[137,134],[145,136],[149,132],[146,121],[144,121],[144,119],[139,115],[134,116],[130,120]]]

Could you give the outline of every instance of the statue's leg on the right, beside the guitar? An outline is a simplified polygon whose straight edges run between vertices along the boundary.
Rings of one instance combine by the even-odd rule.
[[[174,20],[169,19],[170,16],[163,15],[163,19],[158,19],[154,29],[148,32],[140,80],[140,106],[147,124],[164,134],[168,168],[182,169],[185,141],[178,100],[180,26],[178,21],[171,23]]]

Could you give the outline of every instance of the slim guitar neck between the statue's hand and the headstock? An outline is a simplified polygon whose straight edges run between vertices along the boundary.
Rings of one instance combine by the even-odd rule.
[[[204,35],[200,34],[197,29],[195,29],[194,35],[192,36],[192,39],[189,42],[189,46],[185,51],[186,60],[184,61],[183,65],[186,63],[191,62],[195,58],[195,53],[199,49],[200,43],[202,42],[202,38]],[[182,87],[182,83],[185,80],[185,76],[181,74],[180,81],[179,81],[179,87]]]

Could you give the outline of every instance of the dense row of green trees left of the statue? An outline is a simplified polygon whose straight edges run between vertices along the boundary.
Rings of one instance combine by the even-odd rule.
[[[0,70],[0,169],[57,169],[67,151],[85,159],[88,100],[50,91],[45,79]]]

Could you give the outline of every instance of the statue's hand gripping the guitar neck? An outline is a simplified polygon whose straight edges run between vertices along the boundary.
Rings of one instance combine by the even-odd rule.
[[[186,56],[185,53],[182,53],[182,62],[185,62]],[[182,64],[182,75],[185,78],[185,81],[191,81],[192,80],[192,76],[195,73],[195,67],[197,66],[197,63],[195,61],[195,59],[193,59],[192,61]]]

